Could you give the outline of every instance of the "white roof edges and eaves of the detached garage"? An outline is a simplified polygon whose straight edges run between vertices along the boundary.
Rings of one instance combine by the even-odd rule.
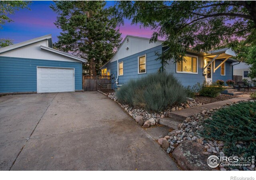
[[[5,53],[7,51],[12,51],[14,49],[18,49],[20,47],[24,47],[26,45],[34,44],[36,42],[44,41],[44,40],[48,40],[48,47],[46,47],[44,45],[40,45],[41,49],[44,49],[46,51],[50,51],[50,52],[53,52],[53,53],[57,53],[57,54],[60,54],[60,55],[63,55],[63,56],[66,56],[66,57],[69,57],[69,58],[72,58],[72,59],[76,59],[78,61],[86,62],[86,59],[83,59],[81,57],[77,57],[77,56],[71,55],[69,53],[64,53],[62,51],[53,49],[52,35],[51,34],[41,36],[39,38],[34,38],[32,40],[24,41],[24,42],[21,42],[21,43],[18,43],[18,44],[13,44],[13,45],[9,45],[9,46],[6,46],[6,47],[2,47],[2,48],[0,48],[0,54]]]

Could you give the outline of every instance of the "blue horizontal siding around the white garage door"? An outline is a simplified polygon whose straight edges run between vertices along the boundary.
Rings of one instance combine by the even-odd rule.
[[[0,93],[36,92],[36,67],[75,69],[75,90],[82,89],[82,62],[0,57]]]

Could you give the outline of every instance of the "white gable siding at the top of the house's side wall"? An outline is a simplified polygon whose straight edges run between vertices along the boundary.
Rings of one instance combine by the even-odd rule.
[[[126,42],[127,38],[129,38],[129,42]],[[128,36],[124,39],[124,42],[118,49],[118,52],[116,51],[110,62],[117,61],[117,59],[128,57],[130,55],[145,51],[147,49],[151,49],[161,44],[162,42],[160,41],[156,43],[149,43],[149,39]],[[126,47],[128,47],[129,49],[127,50]]]

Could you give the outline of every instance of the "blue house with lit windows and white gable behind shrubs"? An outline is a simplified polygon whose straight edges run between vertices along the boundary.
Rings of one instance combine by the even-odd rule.
[[[148,38],[126,36],[114,56],[102,65],[102,75],[112,75],[112,87],[117,88],[130,79],[139,79],[147,74],[157,73],[161,67],[156,61],[156,52],[164,53],[167,47],[163,41],[149,43]],[[170,60],[165,66],[166,73],[172,73],[184,86],[214,82],[218,79],[232,79],[232,63],[238,62],[230,57],[236,56],[231,49],[224,48],[209,53],[187,51],[186,62],[174,63]]]

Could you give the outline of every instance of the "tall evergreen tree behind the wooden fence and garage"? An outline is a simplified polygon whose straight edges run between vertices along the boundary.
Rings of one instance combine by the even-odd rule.
[[[50,6],[58,14],[56,26],[62,29],[56,46],[87,59],[91,75],[112,57],[121,41],[112,8],[105,5],[104,1],[55,1]]]

